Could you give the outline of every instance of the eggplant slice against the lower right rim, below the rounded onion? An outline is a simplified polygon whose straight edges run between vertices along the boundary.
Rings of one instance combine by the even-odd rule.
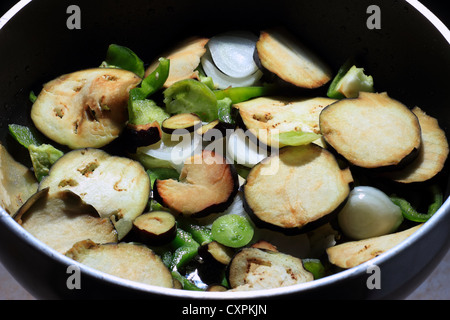
[[[422,225],[388,235],[351,241],[326,249],[330,262],[340,268],[356,267],[400,244]]]

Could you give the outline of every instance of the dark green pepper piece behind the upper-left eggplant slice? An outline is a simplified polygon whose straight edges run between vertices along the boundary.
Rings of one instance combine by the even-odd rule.
[[[111,44],[106,52],[103,67],[125,69],[144,77],[144,62],[129,48]]]

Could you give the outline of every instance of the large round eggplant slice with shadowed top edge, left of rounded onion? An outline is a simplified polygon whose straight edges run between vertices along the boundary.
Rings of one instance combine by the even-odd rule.
[[[250,171],[244,207],[255,223],[283,232],[300,231],[335,212],[352,181],[350,170],[342,170],[329,151],[315,144],[284,147]]]

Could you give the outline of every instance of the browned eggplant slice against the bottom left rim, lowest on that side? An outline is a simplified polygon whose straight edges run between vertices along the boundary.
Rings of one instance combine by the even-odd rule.
[[[172,275],[152,250],[133,243],[76,243],[66,256],[93,269],[123,279],[173,288]]]

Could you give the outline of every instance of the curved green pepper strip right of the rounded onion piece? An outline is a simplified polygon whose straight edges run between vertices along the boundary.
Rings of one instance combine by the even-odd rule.
[[[436,211],[442,206],[443,195],[440,188],[437,185],[431,186],[431,193],[433,194],[433,203],[428,207],[427,213],[419,213],[413,206],[403,198],[397,196],[391,196],[391,201],[400,207],[402,215],[405,219],[414,222],[426,222],[430,219]]]

